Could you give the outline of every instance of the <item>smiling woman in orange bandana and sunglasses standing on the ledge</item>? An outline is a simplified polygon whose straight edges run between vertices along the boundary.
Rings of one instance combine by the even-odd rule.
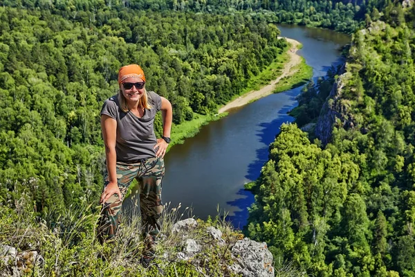
[[[120,224],[120,211],[129,184],[140,184],[140,212],[144,227],[145,266],[154,259],[158,219],[163,211],[161,180],[165,172],[163,157],[169,145],[172,105],[166,98],[145,89],[144,71],[137,64],[122,66],[118,72],[120,91],[104,102],[101,110],[107,175],[100,203],[98,226],[101,242],[113,238]],[[156,139],[154,117],[162,111],[163,136]]]

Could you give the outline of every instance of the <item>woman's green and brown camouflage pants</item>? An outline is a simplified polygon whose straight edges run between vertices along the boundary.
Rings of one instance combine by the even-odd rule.
[[[153,258],[155,255],[156,236],[160,232],[158,219],[163,211],[161,202],[161,180],[165,173],[163,158],[143,159],[139,163],[117,162],[118,188],[124,199],[125,193],[133,179],[140,184],[140,212],[143,235],[145,238],[144,256]],[[104,188],[109,184],[108,174],[105,176]],[[100,242],[113,238],[120,224],[122,202],[118,195],[112,195],[103,204],[101,218],[98,225]]]

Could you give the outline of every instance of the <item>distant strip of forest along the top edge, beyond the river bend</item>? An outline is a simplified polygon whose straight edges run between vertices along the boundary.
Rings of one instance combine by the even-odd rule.
[[[331,28],[351,33],[369,18],[378,19],[379,10],[386,6],[385,0],[0,0],[0,4],[26,8],[56,9],[59,13],[77,17],[77,13],[94,16],[96,10],[104,7],[131,8],[136,10],[181,12],[204,12],[232,14],[239,11],[262,12],[269,21],[286,24],[302,24]]]

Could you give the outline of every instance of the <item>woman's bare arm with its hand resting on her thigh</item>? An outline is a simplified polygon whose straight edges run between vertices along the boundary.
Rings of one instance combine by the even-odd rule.
[[[118,199],[121,201],[121,193],[118,188],[117,181],[117,153],[116,153],[116,139],[117,139],[117,120],[103,114],[101,116],[102,137],[105,145],[105,158],[107,160],[107,172],[109,184],[102,192],[100,203],[105,203],[113,194],[118,194]]]

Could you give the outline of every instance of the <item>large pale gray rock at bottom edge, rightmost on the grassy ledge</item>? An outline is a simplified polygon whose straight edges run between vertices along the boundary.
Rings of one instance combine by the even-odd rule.
[[[232,265],[230,269],[244,277],[273,277],[273,254],[268,250],[265,242],[255,242],[248,238],[239,240],[231,250],[232,256],[239,265]]]

